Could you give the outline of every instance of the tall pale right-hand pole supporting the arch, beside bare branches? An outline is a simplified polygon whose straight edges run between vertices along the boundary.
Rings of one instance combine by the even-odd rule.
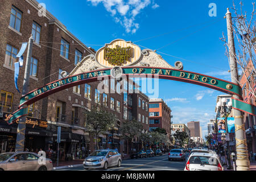
[[[229,60],[232,82],[239,85],[238,82],[238,69],[236,62],[236,49],[234,47],[234,35],[232,27],[232,16],[227,9],[226,23],[228,28],[228,47],[229,47]],[[233,98],[240,99],[239,96],[233,95]],[[245,135],[245,124],[243,123],[243,113],[240,110],[233,109],[233,117],[235,119],[236,127],[236,151],[237,151],[237,171],[250,171],[250,161],[248,159],[248,150]]]

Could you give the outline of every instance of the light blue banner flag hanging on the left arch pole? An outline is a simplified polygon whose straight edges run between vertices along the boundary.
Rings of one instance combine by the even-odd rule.
[[[14,63],[14,83],[15,83],[15,88],[18,90],[19,92],[19,88],[18,88],[18,77],[19,77],[19,68],[23,66],[23,53],[27,48],[27,43],[23,43],[22,47],[19,50],[18,55],[16,55],[16,57],[19,57],[19,61]],[[20,93],[20,92],[19,92]]]

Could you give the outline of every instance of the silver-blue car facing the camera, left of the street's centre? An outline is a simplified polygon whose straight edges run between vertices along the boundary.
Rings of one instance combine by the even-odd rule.
[[[97,150],[84,160],[84,169],[121,167],[122,158],[115,150]]]

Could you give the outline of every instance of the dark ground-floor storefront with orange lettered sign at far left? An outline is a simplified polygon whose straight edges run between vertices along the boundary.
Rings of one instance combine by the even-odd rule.
[[[18,128],[18,122],[9,125],[5,119],[9,116],[7,113],[3,113],[3,118],[0,118],[0,152],[15,151],[16,132]],[[24,148],[29,151],[37,152],[47,150],[47,140],[52,137],[52,132],[48,130],[47,121],[43,121],[37,118],[26,118],[26,136],[24,141]]]

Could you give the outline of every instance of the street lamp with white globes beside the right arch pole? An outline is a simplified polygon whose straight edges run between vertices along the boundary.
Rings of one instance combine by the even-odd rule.
[[[217,109],[218,109],[218,114],[222,114],[225,117],[225,128],[226,128],[226,135],[228,134],[228,124],[227,124],[227,117],[232,111],[232,101],[228,102],[228,105],[226,104],[227,99],[222,98],[220,101],[217,103]],[[228,148],[228,169],[232,168],[232,164],[230,161],[230,148],[229,148],[229,140],[226,140],[226,146]]]

